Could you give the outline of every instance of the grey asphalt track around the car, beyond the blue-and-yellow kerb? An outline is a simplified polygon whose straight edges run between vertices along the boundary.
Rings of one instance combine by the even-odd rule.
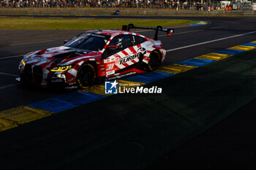
[[[251,42],[255,39],[255,33],[248,34],[256,31],[255,18],[192,19],[210,21],[211,24],[206,26],[186,26],[176,28],[175,34],[171,37],[159,34],[159,40],[162,41],[165,49],[167,51],[171,50],[170,52],[167,52],[167,59],[164,61],[163,65],[184,61],[227,47]],[[1,31],[0,80],[4,81],[0,82],[0,94],[5,97],[0,98],[0,110],[29,104],[32,101],[45,99],[59,94],[59,92],[56,91],[49,92],[48,90],[31,88],[24,89],[17,85],[14,78],[19,74],[17,69],[18,63],[22,58],[22,55],[33,50],[63,45],[63,39],[69,39],[80,32],[81,31]],[[140,34],[154,36],[154,32],[152,31],[143,31],[140,32]],[[241,34],[246,35],[237,36]],[[211,42],[212,40],[217,41]],[[184,48],[179,49],[182,47]]]

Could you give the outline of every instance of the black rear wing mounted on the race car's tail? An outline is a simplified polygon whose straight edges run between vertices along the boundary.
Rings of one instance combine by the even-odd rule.
[[[166,32],[167,36],[173,35],[174,29],[173,28],[162,28],[162,26],[157,27],[146,27],[146,26],[134,26],[132,23],[129,23],[128,26],[122,26],[123,31],[129,31],[130,28],[140,28],[140,29],[153,29],[156,30],[154,34],[154,40],[158,40],[158,31]]]

